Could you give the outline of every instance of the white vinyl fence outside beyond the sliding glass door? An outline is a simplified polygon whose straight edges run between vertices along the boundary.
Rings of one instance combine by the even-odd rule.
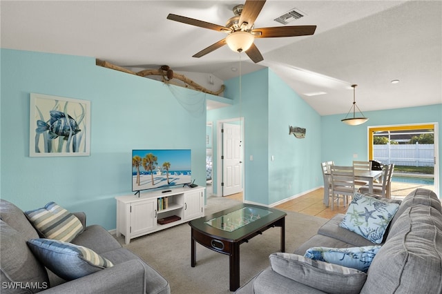
[[[374,159],[396,166],[434,166],[434,144],[373,145]]]

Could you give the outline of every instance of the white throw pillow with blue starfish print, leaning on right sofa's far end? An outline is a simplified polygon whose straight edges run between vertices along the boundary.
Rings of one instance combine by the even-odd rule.
[[[354,193],[352,202],[339,226],[373,243],[381,244],[387,226],[398,208],[399,204]]]

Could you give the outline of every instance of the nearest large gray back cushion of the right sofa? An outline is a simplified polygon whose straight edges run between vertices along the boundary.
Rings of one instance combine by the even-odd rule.
[[[361,293],[378,293],[380,285],[383,293],[442,293],[440,219],[442,213],[430,206],[407,208],[374,258]]]

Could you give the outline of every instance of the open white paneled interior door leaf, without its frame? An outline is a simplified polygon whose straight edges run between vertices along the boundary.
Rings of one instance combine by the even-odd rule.
[[[222,124],[222,196],[242,192],[241,126]]]

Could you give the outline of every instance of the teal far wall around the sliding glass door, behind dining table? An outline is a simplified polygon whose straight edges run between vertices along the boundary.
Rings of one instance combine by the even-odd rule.
[[[442,100],[442,98],[441,98]],[[369,121],[360,126],[347,126],[340,119],[345,115],[327,115],[321,118],[322,141],[321,160],[334,160],[336,164],[352,164],[353,155],[358,159],[368,158],[369,126],[392,126],[403,124],[438,123],[439,137],[439,189],[442,183],[442,104],[391,110],[364,111]],[[436,194],[441,197],[440,190]]]

